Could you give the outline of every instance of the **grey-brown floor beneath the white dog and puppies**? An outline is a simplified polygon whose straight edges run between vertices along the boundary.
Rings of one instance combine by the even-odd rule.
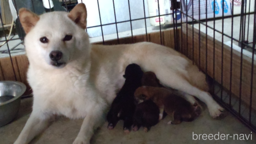
[[[0,143],[13,143],[21,132],[25,122],[32,111],[32,98],[22,99],[21,108],[16,119],[3,127],[0,127]],[[193,122],[183,122],[178,125],[168,125],[170,116],[165,117],[159,124],[153,126],[148,133],[140,128],[138,132],[125,135],[122,130],[122,121],[113,129],[107,129],[107,122],[96,130],[91,143],[256,143],[256,134],[240,123],[234,116],[226,113],[223,120],[214,120],[208,110],[204,109],[200,117]],[[72,143],[78,135],[82,120],[69,120],[66,117],[57,117],[40,136],[31,143]],[[194,134],[252,134],[249,140],[234,140],[228,137],[226,140],[193,140]],[[196,136],[194,137],[196,138]],[[217,136],[216,136],[217,138]],[[252,138],[252,140],[251,140]],[[246,139],[246,137],[245,137]]]

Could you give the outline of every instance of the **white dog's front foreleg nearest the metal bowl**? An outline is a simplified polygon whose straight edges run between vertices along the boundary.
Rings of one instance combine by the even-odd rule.
[[[29,143],[48,126],[49,119],[50,115],[44,114],[43,112],[32,111],[27,123],[14,144]]]

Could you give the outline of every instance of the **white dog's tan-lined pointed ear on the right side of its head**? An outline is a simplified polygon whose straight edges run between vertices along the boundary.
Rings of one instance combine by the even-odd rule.
[[[86,28],[87,11],[85,4],[80,3],[76,5],[69,13],[68,17],[78,24],[81,28]]]

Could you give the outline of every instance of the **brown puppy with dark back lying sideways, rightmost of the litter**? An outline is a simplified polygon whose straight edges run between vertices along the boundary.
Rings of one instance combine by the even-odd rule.
[[[193,121],[201,113],[201,108],[196,104],[192,106],[188,101],[175,94],[175,91],[142,86],[136,89],[134,93],[135,98],[140,100],[153,100],[158,107],[164,107],[164,111],[168,115],[173,115],[174,120],[168,124],[180,124],[182,121]]]

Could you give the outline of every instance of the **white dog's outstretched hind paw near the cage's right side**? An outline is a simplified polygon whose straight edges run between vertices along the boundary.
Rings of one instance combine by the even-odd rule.
[[[225,109],[223,109],[219,104],[214,104],[214,106],[208,107],[210,115],[214,119],[222,119],[224,117]]]

